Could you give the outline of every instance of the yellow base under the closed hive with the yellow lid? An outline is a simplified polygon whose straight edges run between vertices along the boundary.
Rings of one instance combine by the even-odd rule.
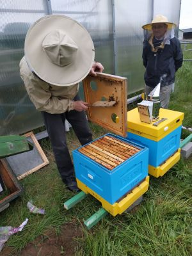
[[[168,170],[170,170],[170,168],[172,168],[172,166],[179,161],[179,159],[180,148],[172,157],[168,158],[166,162],[161,166],[154,167],[152,165],[148,165],[148,173],[156,178],[158,178],[159,176],[162,177],[164,173],[168,172]]]

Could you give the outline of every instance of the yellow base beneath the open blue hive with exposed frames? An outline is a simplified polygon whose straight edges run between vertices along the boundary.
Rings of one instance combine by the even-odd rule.
[[[108,211],[111,215],[116,216],[117,214],[122,214],[127,208],[129,208],[140,196],[142,196],[148,190],[149,186],[149,176],[145,178],[145,180],[136,188],[132,189],[132,191],[125,196],[120,202],[115,204],[109,204],[108,201],[104,200],[101,196],[95,193],[92,189],[88,188],[84,183],[77,179],[77,186],[84,193],[90,194],[94,196],[99,202],[101,202],[102,207]]]

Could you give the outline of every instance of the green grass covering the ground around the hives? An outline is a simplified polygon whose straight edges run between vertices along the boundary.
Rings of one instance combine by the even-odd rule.
[[[186,62],[177,72],[175,92],[170,109],[184,112],[184,126],[192,126],[192,63]],[[134,107],[134,105],[132,105]],[[98,138],[107,131],[90,124],[93,137]],[[186,138],[189,131],[182,131]],[[74,132],[67,133],[70,152],[79,147]],[[0,213],[0,225],[18,227],[29,218],[28,224],[18,234],[10,237],[4,246],[12,246],[16,255],[29,242],[49,229],[60,234],[61,225],[89,218],[100,208],[100,203],[88,196],[76,207],[65,211],[63,203],[73,193],[65,188],[58,175],[49,140],[41,146],[50,164],[21,180],[22,196],[13,200],[8,209]],[[158,179],[150,177],[150,188],[143,195],[140,206],[115,218],[107,215],[91,230],[83,225],[83,237],[76,239],[77,256],[189,256],[192,255],[191,221],[192,157],[180,159],[166,175]],[[45,215],[28,211],[29,200],[45,209]],[[16,253],[17,252],[17,253]]]

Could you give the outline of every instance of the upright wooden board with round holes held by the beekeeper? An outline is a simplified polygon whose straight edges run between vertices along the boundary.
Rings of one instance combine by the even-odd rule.
[[[127,78],[97,73],[83,80],[85,101],[92,105],[97,101],[116,101],[111,108],[90,107],[88,120],[115,132],[127,136]]]

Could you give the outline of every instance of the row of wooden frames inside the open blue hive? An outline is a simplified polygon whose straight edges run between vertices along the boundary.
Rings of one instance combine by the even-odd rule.
[[[108,168],[108,170],[113,170],[140,150],[140,148],[113,138],[113,136],[104,136],[79,148],[81,154]]]

